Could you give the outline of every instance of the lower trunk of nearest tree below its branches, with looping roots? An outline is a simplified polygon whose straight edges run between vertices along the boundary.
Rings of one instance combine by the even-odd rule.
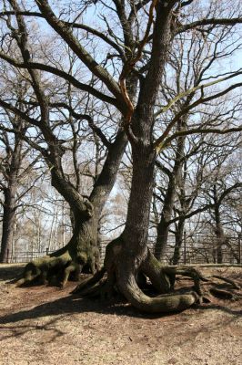
[[[110,295],[116,284],[126,299],[140,310],[147,312],[183,310],[198,300],[200,294],[198,282],[201,276],[194,269],[179,271],[176,267],[165,268],[149,252],[146,242],[156,156],[152,149],[142,143],[133,145],[132,148],[133,178],[126,228],[121,236],[107,245],[104,269],[89,281],[80,284],[75,292],[82,295],[96,295],[96,282],[106,271],[106,284],[101,286],[102,295]],[[166,295],[147,297],[137,284],[137,278],[141,274],[148,276],[159,294],[166,293]],[[176,274],[193,277],[197,292],[169,294],[171,281]]]

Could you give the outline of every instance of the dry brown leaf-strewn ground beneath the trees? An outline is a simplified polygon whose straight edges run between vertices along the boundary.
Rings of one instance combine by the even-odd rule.
[[[242,295],[172,315],[70,295],[76,283],[13,288],[0,266],[0,364],[242,364]],[[241,280],[242,268],[203,269]],[[191,283],[188,283],[191,285]]]

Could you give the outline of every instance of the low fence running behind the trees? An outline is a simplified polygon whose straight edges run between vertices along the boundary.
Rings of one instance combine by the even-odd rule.
[[[107,241],[100,245],[101,260],[104,260]],[[150,242],[150,250],[154,251],[154,243]],[[216,264],[217,260],[217,241],[215,237],[194,235],[191,237],[184,236],[183,244],[179,253],[179,264]],[[166,253],[162,261],[166,264],[173,263],[175,250],[175,240],[170,239],[166,247]],[[8,252],[7,263],[26,263],[35,260],[35,258],[48,255],[53,251],[47,248],[41,251],[21,251],[10,254]],[[227,244],[221,245],[220,255],[224,264],[241,264],[241,239],[237,237],[228,237]]]

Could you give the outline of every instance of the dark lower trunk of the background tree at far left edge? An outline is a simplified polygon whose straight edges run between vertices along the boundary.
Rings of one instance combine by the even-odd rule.
[[[12,246],[15,225],[15,186],[9,186],[4,190],[4,214],[0,262],[4,263],[8,260],[8,254]]]

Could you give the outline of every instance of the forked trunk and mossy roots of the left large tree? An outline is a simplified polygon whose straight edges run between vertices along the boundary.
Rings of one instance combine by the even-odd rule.
[[[107,153],[105,165],[89,201],[86,202],[75,187],[66,181],[61,168],[52,169],[52,185],[70,205],[74,218],[73,236],[65,247],[25,266],[23,278],[18,280],[17,285],[36,280],[41,283],[51,282],[53,276],[57,276],[57,281],[64,287],[70,274],[77,278],[82,270],[95,274],[96,269],[99,269],[98,220],[116,181],[116,173],[125,148],[126,134],[123,130],[119,130],[116,141]]]

